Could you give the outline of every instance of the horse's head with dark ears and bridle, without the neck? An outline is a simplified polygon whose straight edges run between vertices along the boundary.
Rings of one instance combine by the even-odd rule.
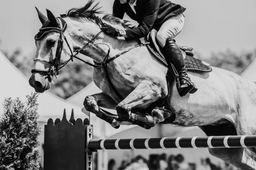
[[[50,88],[52,76],[58,74],[58,66],[70,59],[73,42],[69,34],[64,34],[67,24],[61,17],[56,18],[48,9],[47,16],[38,8],[36,10],[42,27],[35,35],[37,49],[29,84],[36,92],[42,93]]]

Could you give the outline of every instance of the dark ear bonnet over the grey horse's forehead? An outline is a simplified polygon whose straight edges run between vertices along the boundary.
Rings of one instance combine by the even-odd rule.
[[[47,14],[49,13],[48,11],[49,10],[47,10]],[[51,14],[48,14],[48,15],[51,15]],[[52,14],[52,16],[53,16],[53,14]],[[54,19],[54,18],[52,18],[52,16],[51,16],[50,20]],[[61,23],[63,26],[63,32],[64,32],[67,29],[67,23],[61,17],[57,17],[57,18],[59,18],[61,20]],[[38,34],[35,35],[35,40],[41,40],[49,32],[58,32],[59,33],[60,31],[58,29],[54,29],[54,28],[61,28],[60,23],[57,18],[55,18],[55,20],[53,20],[53,22],[50,21],[49,19],[45,20],[42,27],[39,29]]]

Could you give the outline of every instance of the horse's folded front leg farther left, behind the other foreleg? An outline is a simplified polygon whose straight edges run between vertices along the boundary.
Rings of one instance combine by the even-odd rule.
[[[82,111],[84,112],[85,109],[89,112],[96,114],[97,117],[108,122],[109,124],[111,124],[111,126],[115,128],[118,128],[120,125],[132,125],[131,122],[122,122],[117,120],[117,115],[109,116],[109,113],[105,114],[105,112],[99,108],[103,107],[116,110],[116,105],[117,103],[111,97],[105,95],[104,93],[98,93],[87,96],[84,99],[84,108],[82,109]]]

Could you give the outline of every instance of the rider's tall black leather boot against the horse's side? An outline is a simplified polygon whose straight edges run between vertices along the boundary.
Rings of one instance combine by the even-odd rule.
[[[169,61],[174,65],[175,69],[179,74],[179,79],[177,82],[177,91],[180,96],[185,96],[187,93],[193,94],[198,89],[195,84],[191,82],[187,69],[185,68],[185,61],[183,59],[182,52],[171,37],[167,37],[166,45],[164,46]],[[172,69],[171,67],[169,69]],[[170,82],[171,84],[172,82]]]

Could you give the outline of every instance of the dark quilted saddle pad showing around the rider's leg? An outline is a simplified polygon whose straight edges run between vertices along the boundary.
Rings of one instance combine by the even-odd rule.
[[[154,56],[159,59],[164,65],[167,65],[166,60],[161,57],[150,45],[146,45],[148,50],[151,51]],[[187,70],[199,71],[199,72],[211,72],[212,68],[207,62],[202,61],[201,59],[196,59],[192,56],[186,55],[185,64]]]

